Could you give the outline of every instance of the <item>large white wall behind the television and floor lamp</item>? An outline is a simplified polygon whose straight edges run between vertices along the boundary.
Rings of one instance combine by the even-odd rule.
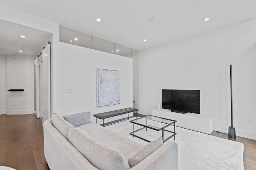
[[[150,114],[162,89],[200,90],[200,113],[213,115],[214,129],[228,133],[232,64],[236,134],[256,139],[255,45],[254,19],[141,50],[139,109]]]

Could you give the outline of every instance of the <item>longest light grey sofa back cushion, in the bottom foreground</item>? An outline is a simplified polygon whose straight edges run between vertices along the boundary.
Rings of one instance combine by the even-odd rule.
[[[119,150],[104,145],[79,128],[68,131],[70,143],[96,168],[101,170],[128,170],[129,164]]]

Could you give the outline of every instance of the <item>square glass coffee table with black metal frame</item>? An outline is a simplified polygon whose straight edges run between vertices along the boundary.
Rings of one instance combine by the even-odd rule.
[[[175,141],[175,135],[177,134],[177,133],[175,133],[175,123],[177,122],[176,120],[171,120],[171,119],[166,119],[166,118],[162,118],[162,117],[148,115],[145,117],[131,120],[130,122],[132,123],[132,132],[130,133],[130,135],[132,135],[133,137],[137,137],[144,141],[151,142],[150,140],[145,139],[142,136],[143,135],[145,136],[148,129],[153,129],[154,131],[158,131],[158,132],[162,131],[161,135],[163,138],[163,142],[166,142],[167,140],[171,139],[172,137],[174,137],[174,141]],[[134,124],[140,125],[143,127],[141,129],[134,131]],[[173,129],[174,129],[173,131],[166,129],[166,127],[169,127],[170,125],[173,125]],[[153,134],[153,133],[154,132],[147,133],[146,136],[148,136],[148,134]],[[166,138],[164,138],[164,134],[167,135]],[[156,135],[159,135],[159,133],[156,133]]]

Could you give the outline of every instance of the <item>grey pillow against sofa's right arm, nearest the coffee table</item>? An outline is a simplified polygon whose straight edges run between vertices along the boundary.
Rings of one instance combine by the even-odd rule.
[[[159,137],[158,139],[148,143],[144,148],[138,150],[134,154],[132,154],[128,158],[128,164],[130,168],[134,167],[138,163],[140,163],[142,160],[144,160],[146,157],[148,157],[150,154],[152,154],[156,149],[161,147],[163,145],[163,139],[162,137]]]

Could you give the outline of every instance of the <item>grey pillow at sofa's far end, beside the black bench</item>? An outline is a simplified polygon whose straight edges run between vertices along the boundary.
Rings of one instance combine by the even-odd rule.
[[[91,112],[75,113],[72,115],[64,116],[64,119],[71,123],[73,126],[80,126],[91,122]]]

